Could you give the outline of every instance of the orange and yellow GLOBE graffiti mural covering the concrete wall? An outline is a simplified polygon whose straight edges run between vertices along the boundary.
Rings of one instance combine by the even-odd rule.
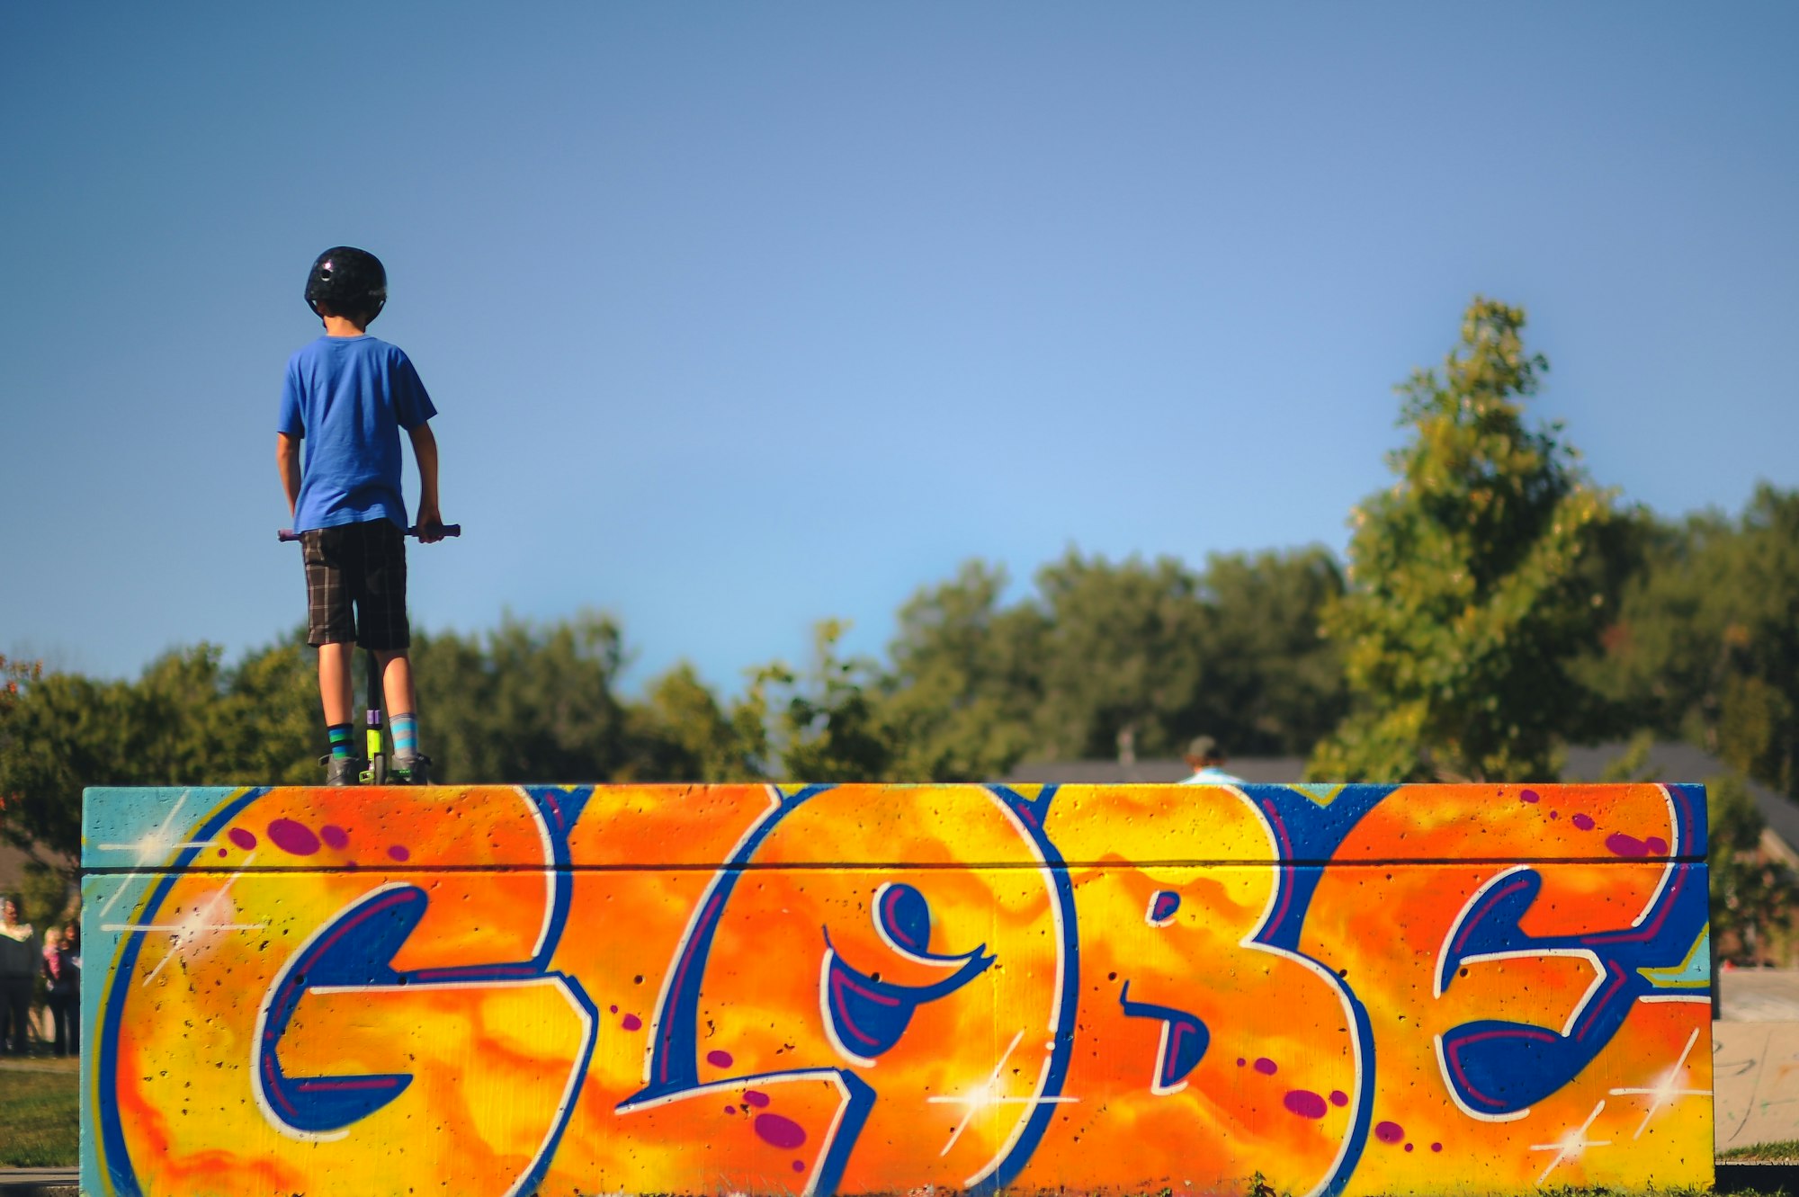
[[[90,1193],[1713,1175],[1698,787],[95,789],[85,820]]]

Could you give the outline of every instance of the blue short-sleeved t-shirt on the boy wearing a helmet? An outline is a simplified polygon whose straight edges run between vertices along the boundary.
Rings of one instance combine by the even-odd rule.
[[[437,415],[412,361],[374,336],[320,336],[288,359],[281,428],[306,439],[293,530],[392,519],[399,492],[399,430]]]

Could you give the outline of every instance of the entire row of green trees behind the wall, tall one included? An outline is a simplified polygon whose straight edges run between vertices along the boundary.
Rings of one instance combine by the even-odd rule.
[[[883,656],[844,656],[826,620],[810,661],[734,694],[685,665],[624,694],[603,615],[419,634],[425,749],[444,782],[982,780],[1205,732],[1315,776],[1542,780],[1563,742],[1650,732],[1799,796],[1799,494],[1682,521],[1621,503],[1524,417],[1547,363],[1522,327],[1477,300],[1401,386],[1396,480],[1344,563],[1070,550],[1009,597],[975,561],[905,602]],[[313,670],[297,636],[131,681],[14,663],[0,836],[74,852],[83,785],[315,784]]]

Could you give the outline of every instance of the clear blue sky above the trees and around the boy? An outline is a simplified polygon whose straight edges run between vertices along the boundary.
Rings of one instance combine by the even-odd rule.
[[[1601,483],[1736,510],[1799,485],[1794,63],[1794,4],[7,4],[0,651],[300,620],[338,243],[468,528],[414,618],[604,609],[635,681],[968,557],[1340,552],[1477,291]]]

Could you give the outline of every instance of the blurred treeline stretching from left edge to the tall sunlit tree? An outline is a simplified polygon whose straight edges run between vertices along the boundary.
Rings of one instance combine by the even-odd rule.
[[[721,696],[689,665],[621,690],[601,615],[506,618],[414,638],[425,749],[444,782],[982,780],[1024,757],[1175,755],[1195,728],[1245,753],[1302,753],[1344,710],[1319,636],[1342,581],[1319,548],[1108,563],[1070,552],[1004,602],[970,563],[900,611],[885,660],[772,661]],[[0,708],[9,838],[79,843],[83,785],[318,784],[317,654],[299,633],[227,663],[167,652],[131,681],[16,678]],[[358,669],[358,687],[360,687]],[[358,705],[362,694],[358,688]]]

